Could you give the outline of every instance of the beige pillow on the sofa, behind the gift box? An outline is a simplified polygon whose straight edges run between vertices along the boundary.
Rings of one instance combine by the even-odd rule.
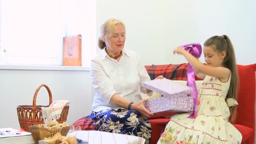
[[[171,80],[171,81],[173,81],[175,83],[179,83],[181,85],[187,85],[187,81],[185,81],[185,80]],[[202,88],[202,83],[203,83],[203,80],[196,80],[195,81],[195,84],[196,84],[196,87],[197,87],[197,93],[199,93],[200,89]],[[162,96],[162,94],[157,93],[155,91],[153,91],[152,96],[148,96],[145,93],[141,93],[142,99],[155,99],[155,98],[159,98],[161,96]]]

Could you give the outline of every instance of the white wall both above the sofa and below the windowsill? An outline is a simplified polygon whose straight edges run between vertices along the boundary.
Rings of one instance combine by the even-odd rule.
[[[127,28],[125,48],[139,53],[144,65],[151,65],[186,63],[182,56],[173,56],[173,48],[227,34],[235,46],[237,63],[253,64],[254,5],[254,0],[97,0],[97,36],[107,18],[123,20]],[[16,107],[32,104],[34,92],[42,83],[50,87],[53,101],[71,101],[69,124],[90,114],[93,91],[88,71],[0,69],[0,128],[19,128]],[[47,105],[47,96],[42,88],[37,104]]]

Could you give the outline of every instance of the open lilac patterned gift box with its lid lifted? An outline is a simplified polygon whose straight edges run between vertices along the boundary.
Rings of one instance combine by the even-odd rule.
[[[193,92],[193,89],[172,82],[168,79],[156,79],[143,83],[145,88],[148,88],[163,96],[157,99],[151,99],[144,103],[144,106],[154,114],[154,116],[170,116],[176,112],[193,112],[194,99],[192,96],[187,96]]]

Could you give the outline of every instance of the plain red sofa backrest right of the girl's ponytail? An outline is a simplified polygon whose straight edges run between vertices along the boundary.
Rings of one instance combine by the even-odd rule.
[[[253,128],[248,143],[254,144],[255,138],[255,71],[256,64],[237,65],[239,89],[237,95],[237,116],[235,124]]]

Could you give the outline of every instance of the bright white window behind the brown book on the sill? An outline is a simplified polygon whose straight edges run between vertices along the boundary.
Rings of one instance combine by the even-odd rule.
[[[96,51],[94,0],[0,2],[0,42],[8,64],[62,65],[63,37],[81,34],[82,65],[90,66]]]

